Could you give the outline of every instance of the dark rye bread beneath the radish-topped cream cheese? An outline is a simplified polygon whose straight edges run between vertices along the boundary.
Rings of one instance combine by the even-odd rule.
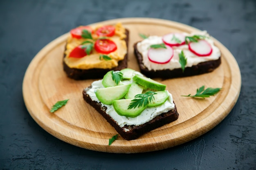
[[[138,42],[137,42],[138,43]],[[197,65],[193,65],[191,67],[186,67],[184,72],[182,72],[182,68],[175,68],[173,70],[164,69],[164,70],[148,70],[146,66],[143,64],[143,58],[141,53],[139,53],[137,49],[137,43],[134,44],[134,54],[137,58],[137,62],[139,64],[139,68],[142,74],[146,75],[150,78],[176,78],[176,77],[187,77],[192,75],[199,75],[204,73],[212,72],[215,68],[220,66],[221,60],[220,57],[218,60],[211,60],[207,62],[201,62]]]

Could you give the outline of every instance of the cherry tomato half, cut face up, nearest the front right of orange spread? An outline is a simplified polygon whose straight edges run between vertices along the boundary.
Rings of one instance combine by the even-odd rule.
[[[108,39],[98,39],[94,44],[94,49],[98,53],[109,54],[117,50],[117,45]]]

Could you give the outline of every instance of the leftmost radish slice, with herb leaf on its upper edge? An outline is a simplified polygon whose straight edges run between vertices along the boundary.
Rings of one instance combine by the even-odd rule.
[[[148,50],[148,59],[151,62],[154,62],[154,63],[157,63],[157,64],[166,64],[173,57],[173,53],[174,53],[173,48],[171,46],[166,46],[166,49],[164,49],[164,48],[159,48],[159,49],[150,48]]]

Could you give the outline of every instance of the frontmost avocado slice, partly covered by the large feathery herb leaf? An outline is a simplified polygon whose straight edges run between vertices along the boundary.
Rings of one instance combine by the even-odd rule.
[[[147,105],[144,106],[143,104],[140,107],[128,109],[128,106],[130,105],[131,101],[132,99],[114,100],[112,102],[112,105],[118,115],[126,116],[126,117],[137,117],[141,114],[143,110],[147,108]]]

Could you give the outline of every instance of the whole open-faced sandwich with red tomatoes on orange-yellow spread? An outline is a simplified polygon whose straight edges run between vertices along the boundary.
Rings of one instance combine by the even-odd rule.
[[[72,79],[101,78],[127,67],[128,30],[116,25],[79,26],[70,31],[63,66]]]

